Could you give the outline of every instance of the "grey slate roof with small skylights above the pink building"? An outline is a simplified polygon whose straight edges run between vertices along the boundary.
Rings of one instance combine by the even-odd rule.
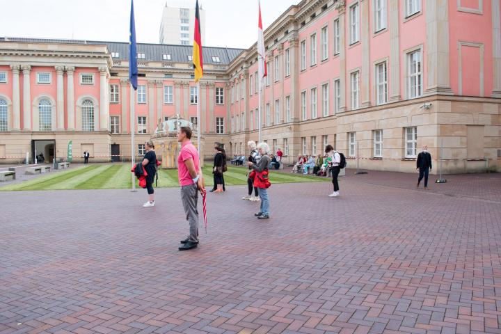
[[[128,42],[105,42],[96,40],[57,40],[45,38],[6,38],[0,37],[0,42],[46,42],[46,43],[65,43],[65,44],[97,44],[107,45],[110,52],[118,52],[117,59],[128,60],[129,43]],[[192,45],[164,45],[164,44],[137,44],[138,53],[145,54],[144,59],[139,61],[164,61],[163,55],[170,54],[170,61],[175,63],[190,63],[188,56],[193,52]],[[244,51],[244,49],[233,49],[227,47],[202,47],[205,64],[228,65],[234,58]],[[219,57],[220,63],[212,61],[212,56]]]

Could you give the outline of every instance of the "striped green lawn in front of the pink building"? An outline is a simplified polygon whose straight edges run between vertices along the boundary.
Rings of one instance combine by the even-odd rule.
[[[205,185],[212,186],[211,167],[202,169]],[[48,173],[35,179],[0,187],[0,191],[17,190],[58,190],[58,189],[127,189],[132,187],[132,173],[129,164],[102,164],[70,168],[58,173]],[[247,184],[247,169],[228,167],[224,174],[226,185]],[[272,184],[293,182],[323,182],[324,177],[313,177],[291,173],[271,171]],[[158,187],[179,186],[176,169],[160,169]]]

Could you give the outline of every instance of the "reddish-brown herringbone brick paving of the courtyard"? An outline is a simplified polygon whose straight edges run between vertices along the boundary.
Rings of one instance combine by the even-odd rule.
[[[501,333],[501,175],[415,176],[232,186],[187,252],[177,189],[0,193],[0,332]]]

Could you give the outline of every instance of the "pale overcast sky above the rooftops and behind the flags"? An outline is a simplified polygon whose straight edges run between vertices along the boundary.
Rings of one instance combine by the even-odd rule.
[[[134,0],[138,42],[158,43],[167,3]],[[211,47],[246,49],[257,40],[257,0],[199,0],[205,9],[205,41]],[[299,0],[261,0],[264,29]],[[129,40],[130,0],[0,0],[2,37]]]

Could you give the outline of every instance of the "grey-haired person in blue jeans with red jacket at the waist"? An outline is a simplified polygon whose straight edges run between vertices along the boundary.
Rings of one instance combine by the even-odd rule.
[[[268,166],[270,164],[270,158],[268,156],[269,146],[267,143],[260,143],[257,145],[257,150],[261,155],[260,161],[257,164],[254,164],[252,161],[248,161],[248,166],[253,168],[253,171],[255,172],[254,186],[257,187],[257,192],[261,198],[260,212],[255,213],[254,216],[257,216],[258,219],[268,219],[269,198],[268,189],[264,183],[268,182]]]

